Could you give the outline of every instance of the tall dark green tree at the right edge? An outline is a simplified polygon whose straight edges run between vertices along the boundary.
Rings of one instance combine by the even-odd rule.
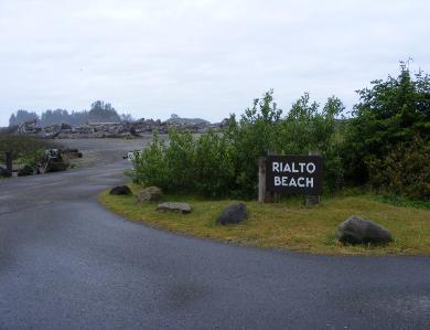
[[[397,148],[408,152],[410,149],[405,149],[405,143],[417,136],[427,143],[430,136],[430,77],[427,74],[418,72],[412,78],[407,65],[401,63],[398,77],[374,81],[372,88],[357,93],[361,102],[347,126],[343,148],[344,168],[353,184],[366,183],[375,177],[370,170],[380,168],[375,160],[397,152]],[[385,161],[389,162],[388,159]],[[419,168],[416,170],[420,171]]]

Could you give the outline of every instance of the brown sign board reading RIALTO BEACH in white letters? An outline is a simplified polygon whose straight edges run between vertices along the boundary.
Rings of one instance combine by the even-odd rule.
[[[286,194],[320,195],[322,167],[321,156],[268,156],[266,190]]]

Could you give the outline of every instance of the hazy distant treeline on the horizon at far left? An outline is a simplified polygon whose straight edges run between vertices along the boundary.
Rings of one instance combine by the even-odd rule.
[[[116,109],[109,103],[97,100],[92,104],[90,110],[72,111],[66,109],[46,110],[39,116],[34,111],[18,110],[9,118],[9,126],[20,125],[25,121],[36,120],[42,127],[68,124],[83,125],[86,123],[120,123],[132,121],[131,115],[118,115]]]

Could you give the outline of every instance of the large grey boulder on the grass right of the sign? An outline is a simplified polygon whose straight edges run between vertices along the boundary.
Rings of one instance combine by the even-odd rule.
[[[393,241],[387,228],[357,215],[350,216],[337,226],[336,237],[344,244],[386,244]]]

